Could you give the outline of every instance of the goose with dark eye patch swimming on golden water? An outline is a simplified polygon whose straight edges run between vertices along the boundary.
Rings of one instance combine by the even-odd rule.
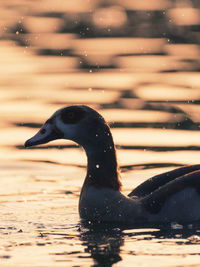
[[[125,224],[200,220],[200,164],[158,174],[125,195],[110,127],[95,109],[73,105],[57,110],[25,147],[56,139],[76,142],[87,155],[79,197],[81,220]]]

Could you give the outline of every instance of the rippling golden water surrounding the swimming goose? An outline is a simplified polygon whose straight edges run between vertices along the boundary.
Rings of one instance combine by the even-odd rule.
[[[109,3],[0,4],[1,266],[200,264],[198,224],[84,225],[84,151],[23,147],[58,108],[88,104],[111,125],[124,193],[199,163],[196,1]]]

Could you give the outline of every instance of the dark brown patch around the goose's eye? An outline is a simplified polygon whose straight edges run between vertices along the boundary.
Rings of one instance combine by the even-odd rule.
[[[67,107],[61,111],[61,120],[65,124],[75,124],[84,118],[85,113],[80,107]]]

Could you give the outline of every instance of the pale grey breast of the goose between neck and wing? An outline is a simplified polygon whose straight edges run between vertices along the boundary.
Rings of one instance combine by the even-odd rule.
[[[79,200],[80,216],[89,221],[134,223],[141,211],[138,200],[111,188],[83,187]]]

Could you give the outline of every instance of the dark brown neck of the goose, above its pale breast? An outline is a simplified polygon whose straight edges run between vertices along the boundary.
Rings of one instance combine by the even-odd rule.
[[[96,135],[95,142],[85,148],[88,166],[84,186],[111,188],[120,191],[121,182],[116,149],[109,128]]]

